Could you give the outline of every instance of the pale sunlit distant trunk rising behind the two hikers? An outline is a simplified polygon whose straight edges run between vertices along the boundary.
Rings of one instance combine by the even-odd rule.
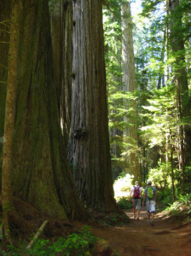
[[[130,17],[130,3],[129,1],[121,5],[122,16],[122,60],[123,60],[123,84],[125,92],[133,92],[136,90],[136,77],[135,77],[135,61],[132,37],[132,21]],[[139,158],[135,151],[137,148],[137,106],[136,101],[124,101],[124,106],[130,110],[133,108],[133,114],[124,118],[127,122],[128,128],[124,131],[124,137],[127,138],[128,143],[133,147],[127,148],[130,154],[126,156],[128,167],[126,168],[130,173],[134,174],[135,179],[141,178]],[[129,138],[129,139],[128,139]]]

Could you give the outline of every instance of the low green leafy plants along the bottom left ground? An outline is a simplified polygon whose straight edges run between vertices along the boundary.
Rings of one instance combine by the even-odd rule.
[[[92,255],[98,238],[92,235],[89,226],[84,226],[78,233],[72,233],[67,238],[59,238],[54,242],[39,239],[31,249],[26,250],[26,245],[19,248],[9,246],[9,252],[3,255],[49,255],[54,256],[56,253],[62,253],[66,256],[86,256]]]

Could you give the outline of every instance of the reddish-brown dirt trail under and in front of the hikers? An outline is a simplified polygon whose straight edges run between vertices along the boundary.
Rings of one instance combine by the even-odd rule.
[[[120,256],[191,256],[191,224],[182,224],[158,213],[152,226],[148,224],[144,208],[139,220],[133,218],[131,210],[124,212],[130,217],[130,224],[122,227],[91,226],[92,233],[106,240]],[[82,224],[76,225],[80,227]]]

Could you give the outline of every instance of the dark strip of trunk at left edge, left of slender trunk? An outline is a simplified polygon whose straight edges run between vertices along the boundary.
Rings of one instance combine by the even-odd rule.
[[[0,1],[0,189],[2,186],[3,131],[8,81],[10,1]]]

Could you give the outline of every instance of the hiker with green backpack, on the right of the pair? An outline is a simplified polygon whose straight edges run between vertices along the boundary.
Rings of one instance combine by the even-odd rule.
[[[144,202],[146,200],[146,207],[148,211],[148,221],[151,225],[153,225],[153,218],[156,209],[156,200],[157,200],[157,189],[152,186],[152,182],[148,180],[147,187],[144,190],[142,207],[144,207]]]

